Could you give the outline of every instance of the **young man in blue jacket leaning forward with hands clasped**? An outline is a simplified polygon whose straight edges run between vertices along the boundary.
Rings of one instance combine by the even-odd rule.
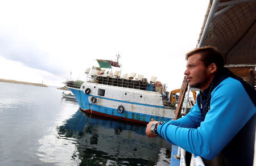
[[[159,134],[204,159],[221,152],[230,165],[253,165],[256,91],[224,67],[212,46],[192,50],[186,59],[189,86],[200,88],[196,105],[176,121],[152,119],[147,136]]]

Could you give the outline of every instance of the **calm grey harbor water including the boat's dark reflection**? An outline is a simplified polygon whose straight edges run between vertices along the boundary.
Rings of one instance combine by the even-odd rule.
[[[0,165],[170,165],[146,126],[80,111],[56,87],[0,82]]]

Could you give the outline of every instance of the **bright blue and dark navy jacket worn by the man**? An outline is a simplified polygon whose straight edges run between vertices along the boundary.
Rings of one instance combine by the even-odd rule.
[[[157,131],[171,144],[205,159],[213,159],[222,151],[230,165],[237,161],[253,165],[255,97],[256,91],[249,84],[224,69],[197,96],[197,104],[186,116],[159,124]]]

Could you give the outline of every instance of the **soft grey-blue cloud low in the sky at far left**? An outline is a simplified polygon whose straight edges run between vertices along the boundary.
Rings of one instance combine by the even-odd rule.
[[[17,61],[27,67],[47,71],[54,75],[68,73],[51,55],[40,50],[36,45],[25,40],[11,40],[0,36],[0,55],[11,61]]]

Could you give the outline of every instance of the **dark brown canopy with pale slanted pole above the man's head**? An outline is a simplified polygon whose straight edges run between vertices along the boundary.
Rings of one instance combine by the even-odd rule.
[[[226,65],[256,66],[255,20],[255,0],[211,0],[197,46],[216,46]]]

